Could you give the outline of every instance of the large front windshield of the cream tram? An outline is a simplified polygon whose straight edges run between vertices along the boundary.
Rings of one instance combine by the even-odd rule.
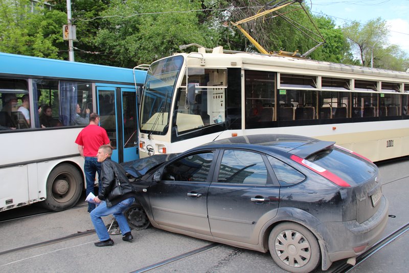
[[[174,56],[150,66],[142,96],[141,132],[166,134],[173,90],[182,64],[183,56]]]

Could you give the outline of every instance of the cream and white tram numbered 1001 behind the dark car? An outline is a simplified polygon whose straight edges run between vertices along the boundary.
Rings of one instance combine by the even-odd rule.
[[[408,106],[408,72],[198,46],[150,65],[140,156],[277,133],[336,141],[380,161],[409,155]]]

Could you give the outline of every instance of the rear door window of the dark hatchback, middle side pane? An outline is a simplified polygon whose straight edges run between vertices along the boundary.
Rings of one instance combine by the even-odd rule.
[[[265,185],[267,176],[267,168],[260,154],[225,150],[217,182]]]

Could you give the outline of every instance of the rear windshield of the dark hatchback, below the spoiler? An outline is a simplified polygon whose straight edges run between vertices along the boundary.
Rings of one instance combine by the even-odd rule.
[[[372,162],[338,148],[320,151],[306,159],[344,179],[351,186],[371,179],[377,172]]]

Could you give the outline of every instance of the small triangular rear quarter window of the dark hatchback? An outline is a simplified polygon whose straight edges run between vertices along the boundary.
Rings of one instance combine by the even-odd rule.
[[[304,181],[305,176],[290,165],[287,165],[286,163],[272,156],[267,156],[267,158],[272,166],[272,170],[280,182],[280,185],[288,186]]]

